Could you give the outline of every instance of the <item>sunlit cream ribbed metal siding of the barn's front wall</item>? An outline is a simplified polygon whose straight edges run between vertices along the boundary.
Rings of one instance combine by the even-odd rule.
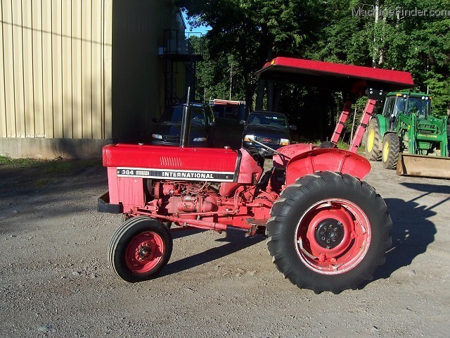
[[[1,0],[1,137],[111,137],[112,8]]]

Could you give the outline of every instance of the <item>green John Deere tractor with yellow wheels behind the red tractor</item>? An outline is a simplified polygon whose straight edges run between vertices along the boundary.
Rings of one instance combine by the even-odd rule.
[[[434,166],[430,161],[425,164],[432,156],[448,159],[447,117],[437,118],[431,115],[431,100],[432,96],[429,94],[388,93],[384,100],[383,113],[376,114],[368,123],[366,157],[371,161],[381,159],[384,168],[394,169],[399,157],[404,161],[404,158],[410,155],[415,156],[414,163],[421,162],[421,172],[427,171],[423,170],[427,166]],[[404,165],[403,162],[400,164]],[[444,166],[449,164],[450,162],[447,162]],[[414,168],[409,170],[410,173],[416,171]],[[416,174],[428,176],[427,173]]]

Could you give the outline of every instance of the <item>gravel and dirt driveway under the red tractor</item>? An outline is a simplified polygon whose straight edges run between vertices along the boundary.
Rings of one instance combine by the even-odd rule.
[[[448,337],[450,181],[375,163],[387,263],[359,290],[316,295],[240,232],[178,232],[162,275],[127,284],[106,256],[120,216],[96,212],[105,170],[65,171],[0,166],[0,337]]]

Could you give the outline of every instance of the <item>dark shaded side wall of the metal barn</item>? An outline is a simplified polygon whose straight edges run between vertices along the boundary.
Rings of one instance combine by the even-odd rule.
[[[165,76],[158,49],[165,46],[167,29],[179,30],[184,40],[184,23],[174,0],[114,0],[113,139],[150,141],[151,120],[165,108]],[[184,82],[183,65],[178,77]],[[185,90],[184,85],[178,88]]]

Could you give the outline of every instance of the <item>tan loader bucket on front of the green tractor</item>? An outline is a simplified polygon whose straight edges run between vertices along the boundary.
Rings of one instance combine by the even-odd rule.
[[[397,175],[450,180],[450,157],[399,154]]]

